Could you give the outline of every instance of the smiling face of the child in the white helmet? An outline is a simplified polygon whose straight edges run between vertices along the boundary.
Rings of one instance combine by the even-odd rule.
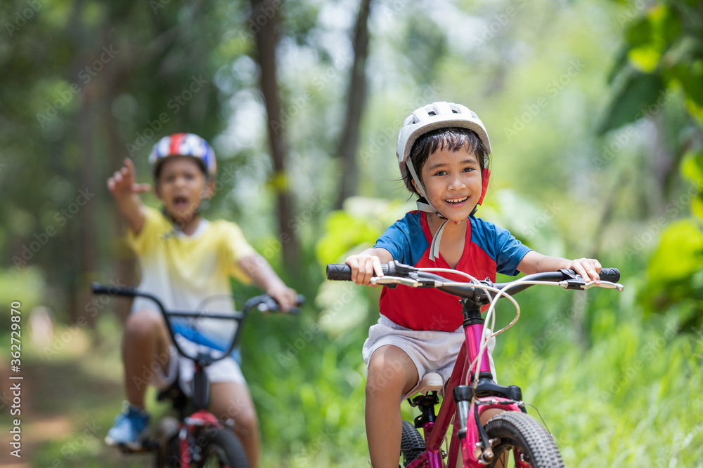
[[[445,218],[465,220],[481,198],[481,165],[475,152],[438,149],[420,170],[427,201]],[[417,189],[415,181],[413,186]]]

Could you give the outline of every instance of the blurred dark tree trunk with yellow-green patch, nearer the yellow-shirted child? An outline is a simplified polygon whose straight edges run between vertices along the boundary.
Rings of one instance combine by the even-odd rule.
[[[272,0],[251,0],[251,18],[254,24],[260,13],[265,12],[266,22],[256,32],[257,62],[261,67],[261,89],[266,101],[266,116],[269,128],[269,145],[273,158],[273,188],[276,190],[278,203],[278,232],[283,247],[283,260],[289,270],[298,268],[298,239],[293,226],[293,203],[290,196],[288,174],[285,172],[285,159],[288,155],[288,141],[285,138],[285,123],[281,123],[280,100],[278,100],[278,83],[276,83],[276,46],[278,33],[276,23],[278,10]],[[278,5],[280,8],[280,4]],[[269,12],[271,13],[269,15]]]

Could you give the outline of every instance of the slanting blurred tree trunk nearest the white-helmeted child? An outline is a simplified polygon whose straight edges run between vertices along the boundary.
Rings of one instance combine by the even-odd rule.
[[[342,159],[342,183],[335,206],[342,208],[344,200],[356,194],[359,167],[356,164],[356,149],[359,147],[361,114],[366,104],[366,58],[368,57],[368,12],[371,0],[361,0],[356,17],[354,34],[354,64],[347,93],[347,116],[342,130],[337,154]]]

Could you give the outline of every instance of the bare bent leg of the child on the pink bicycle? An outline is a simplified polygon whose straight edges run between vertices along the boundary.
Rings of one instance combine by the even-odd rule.
[[[366,439],[373,468],[397,468],[402,433],[401,396],[418,383],[418,368],[393,345],[373,352],[366,379]]]

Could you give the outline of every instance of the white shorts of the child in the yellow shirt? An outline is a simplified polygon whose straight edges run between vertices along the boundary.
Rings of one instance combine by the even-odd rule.
[[[184,344],[184,341],[185,340],[179,341],[179,345],[184,348],[184,352],[190,353],[191,349],[197,349],[197,345],[193,345],[192,343]],[[178,366],[177,369],[176,366]],[[231,356],[207,366],[207,368],[205,368],[205,374],[210,383],[235,382],[243,385],[247,383],[237,361]],[[179,355],[176,347],[171,345],[169,347],[169,362],[167,368],[159,366],[148,382],[157,387],[157,389],[162,390],[172,385],[174,380],[176,380],[176,375],[179,376],[179,385],[181,389],[183,389],[183,392],[191,396],[193,394],[195,363],[193,363],[192,359]]]

